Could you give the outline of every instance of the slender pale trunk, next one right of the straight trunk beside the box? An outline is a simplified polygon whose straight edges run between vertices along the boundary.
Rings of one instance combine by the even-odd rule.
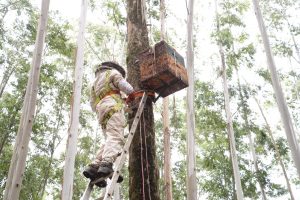
[[[218,10],[217,10],[217,1],[216,0],[215,0],[215,12],[216,12],[216,18],[217,18],[217,32],[219,32],[220,31],[219,14],[218,14]],[[226,124],[227,124],[227,131],[228,131],[228,138],[229,138],[229,145],[230,145],[230,155],[231,155],[231,161],[232,161],[233,175],[234,175],[234,181],[235,181],[235,186],[236,186],[237,199],[242,200],[242,199],[244,199],[244,194],[243,194],[240,170],[239,170],[237,154],[236,154],[235,137],[234,137],[234,131],[233,131],[233,124],[232,124],[232,114],[230,111],[230,99],[229,99],[229,92],[228,92],[228,86],[227,86],[225,55],[224,55],[221,44],[218,44],[218,45],[219,45],[219,52],[220,52],[220,56],[221,56]]]

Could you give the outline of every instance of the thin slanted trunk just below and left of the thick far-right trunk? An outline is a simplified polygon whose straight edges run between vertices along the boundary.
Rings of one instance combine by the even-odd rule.
[[[295,198],[294,198],[293,191],[292,191],[292,188],[291,188],[291,185],[290,185],[290,181],[289,181],[289,178],[288,178],[288,176],[287,176],[287,173],[286,173],[286,170],[285,170],[283,161],[282,161],[282,159],[281,159],[281,156],[280,156],[280,153],[279,153],[278,146],[277,146],[277,144],[276,144],[276,142],[275,142],[275,139],[274,139],[274,137],[273,137],[273,133],[272,133],[271,127],[270,127],[270,125],[269,125],[269,123],[268,123],[268,121],[267,121],[267,118],[266,118],[266,116],[265,116],[265,114],[264,114],[264,111],[263,111],[262,107],[260,106],[260,104],[259,104],[259,102],[258,102],[258,100],[257,100],[257,98],[256,98],[255,96],[254,96],[254,99],[255,99],[255,102],[256,102],[256,104],[257,104],[259,110],[260,110],[260,113],[261,113],[261,115],[262,115],[262,117],[263,117],[263,119],[264,119],[264,121],[265,121],[265,123],[266,123],[267,131],[268,131],[268,133],[269,133],[269,136],[270,136],[271,141],[272,141],[272,143],[273,143],[273,145],[274,145],[274,148],[275,148],[275,156],[276,156],[277,161],[279,162],[279,164],[280,164],[280,166],[281,166],[281,169],[282,169],[282,171],[283,171],[283,175],[284,175],[285,182],[286,182],[287,188],[288,188],[289,193],[290,193],[290,196],[291,196],[291,200],[294,200]]]

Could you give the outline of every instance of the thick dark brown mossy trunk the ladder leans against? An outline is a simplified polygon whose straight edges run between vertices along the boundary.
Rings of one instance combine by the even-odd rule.
[[[128,81],[135,90],[141,89],[136,55],[149,48],[145,11],[144,0],[127,0]],[[131,123],[135,113],[136,110],[129,115]],[[129,149],[129,199],[160,199],[158,183],[153,105],[148,101],[140,120],[140,128],[136,131]]]

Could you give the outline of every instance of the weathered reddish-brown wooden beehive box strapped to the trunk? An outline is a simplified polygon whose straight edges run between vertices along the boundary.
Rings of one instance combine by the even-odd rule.
[[[165,41],[141,52],[138,60],[144,89],[166,97],[188,86],[183,57]]]

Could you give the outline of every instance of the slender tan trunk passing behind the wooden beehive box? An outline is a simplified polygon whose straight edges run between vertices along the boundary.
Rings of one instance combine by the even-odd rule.
[[[160,0],[161,40],[165,39],[165,0]],[[163,99],[163,132],[164,132],[164,194],[166,200],[172,200],[172,179],[171,179],[171,145],[170,145],[170,118],[169,118],[169,97]]]

